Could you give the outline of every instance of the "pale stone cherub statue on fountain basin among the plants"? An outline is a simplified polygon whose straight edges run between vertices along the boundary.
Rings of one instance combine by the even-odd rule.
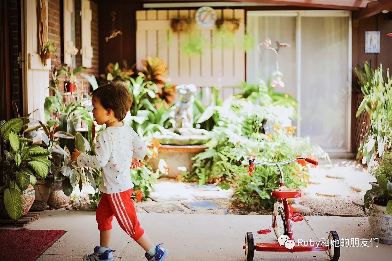
[[[154,135],[163,145],[200,145],[207,142],[209,132],[193,127],[193,103],[196,85],[182,84],[176,86],[178,102],[176,103],[174,120],[176,126],[167,129],[165,134]]]

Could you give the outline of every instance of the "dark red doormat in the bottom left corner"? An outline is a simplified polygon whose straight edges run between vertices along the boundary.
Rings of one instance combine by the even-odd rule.
[[[65,230],[0,229],[0,260],[34,261],[53,245]]]

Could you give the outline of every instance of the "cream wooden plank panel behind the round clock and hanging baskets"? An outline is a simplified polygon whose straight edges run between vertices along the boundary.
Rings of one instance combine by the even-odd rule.
[[[142,69],[141,61],[147,56],[163,59],[169,68],[171,83],[179,85],[193,83],[198,87],[221,85],[232,87],[245,80],[245,52],[241,43],[231,48],[206,49],[200,55],[187,56],[181,51],[185,34],[172,33],[171,20],[189,17],[194,19],[196,10],[147,10],[136,11],[136,62]],[[236,35],[245,31],[245,11],[243,9],[216,9],[217,18],[239,19],[240,27]],[[218,39],[214,37],[215,28],[200,30],[203,38],[212,46]],[[168,41],[167,38],[170,38]],[[219,79],[221,82],[219,83]],[[230,91],[233,94],[233,91]]]

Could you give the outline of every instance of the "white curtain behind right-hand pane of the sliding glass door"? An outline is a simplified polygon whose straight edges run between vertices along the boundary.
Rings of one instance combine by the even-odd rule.
[[[347,148],[348,17],[301,18],[301,136]]]

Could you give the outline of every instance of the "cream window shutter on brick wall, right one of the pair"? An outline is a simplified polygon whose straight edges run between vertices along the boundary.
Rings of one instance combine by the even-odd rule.
[[[91,20],[93,18],[90,0],[82,0],[82,66],[91,68],[93,47],[91,46]]]

